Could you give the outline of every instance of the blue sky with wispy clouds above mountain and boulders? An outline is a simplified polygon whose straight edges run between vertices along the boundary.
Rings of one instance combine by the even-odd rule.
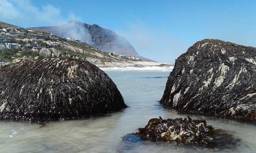
[[[126,37],[146,58],[174,63],[189,46],[215,38],[256,47],[256,1],[0,0],[0,21],[21,27],[96,23]]]

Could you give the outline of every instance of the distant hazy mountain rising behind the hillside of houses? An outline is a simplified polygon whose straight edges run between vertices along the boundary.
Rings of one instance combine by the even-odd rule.
[[[140,57],[134,47],[124,37],[114,31],[101,28],[97,24],[87,24],[80,21],[69,21],[67,24],[52,27],[28,28],[35,31],[48,32],[63,38],[71,37],[86,42],[104,52],[115,52],[118,55]],[[143,57],[142,60],[152,61]]]

